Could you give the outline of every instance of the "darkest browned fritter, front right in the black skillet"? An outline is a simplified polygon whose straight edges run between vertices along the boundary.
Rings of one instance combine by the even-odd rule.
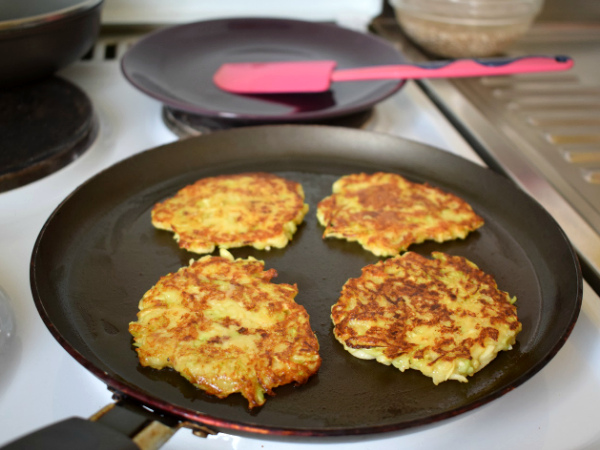
[[[436,385],[466,382],[515,343],[516,298],[466,258],[432,256],[407,252],[349,279],[332,307],[334,335],[357,358],[420,370]]]

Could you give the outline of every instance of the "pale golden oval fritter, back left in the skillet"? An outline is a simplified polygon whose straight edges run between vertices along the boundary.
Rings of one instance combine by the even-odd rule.
[[[181,248],[283,248],[308,212],[299,183],[269,173],[203,178],[152,209],[152,224]]]

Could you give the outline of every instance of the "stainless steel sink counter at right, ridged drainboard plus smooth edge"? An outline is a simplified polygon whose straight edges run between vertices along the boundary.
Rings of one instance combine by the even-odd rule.
[[[410,58],[426,55],[393,20],[376,30]],[[489,165],[538,200],[600,289],[600,22],[538,23],[508,56],[565,54],[567,73],[426,80],[420,86]]]

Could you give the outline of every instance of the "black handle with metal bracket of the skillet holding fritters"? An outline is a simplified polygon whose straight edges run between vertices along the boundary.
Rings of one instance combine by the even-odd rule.
[[[137,403],[121,398],[89,420],[71,417],[10,442],[1,450],[155,450],[182,427],[192,428],[197,436],[216,434],[202,425],[158,415]]]

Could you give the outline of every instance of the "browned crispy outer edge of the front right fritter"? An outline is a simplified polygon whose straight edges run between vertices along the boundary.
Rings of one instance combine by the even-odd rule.
[[[342,288],[340,298],[332,306],[331,320],[334,325],[334,336],[346,351],[359,359],[375,359],[385,365],[391,364],[401,372],[409,368],[419,370],[424,375],[431,377],[435,385],[447,380],[467,382],[468,376],[472,376],[486,367],[496,358],[500,351],[512,349],[518,333],[522,330],[522,324],[518,320],[516,306],[514,305],[516,297],[511,297],[507,292],[500,290],[492,275],[485,273],[475,263],[464,257],[451,256],[442,252],[433,252],[432,256],[433,260],[429,260],[417,253],[407,252],[402,256],[396,256],[365,266],[360,277],[349,279]],[[352,321],[360,320],[360,316],[369,317],[370,314],[370,317],[379,317],[386,312],[383,307],[373,308],[373,311],[370,311],[368,308],[364,311],[355,311],[356,302],[359,301],[357,300],[357,296],[361,292],[360,284],[364,281],[365,277],[372,277],[374,279],[378,277],[379,279],[385,278],[386,266],[396,262],[416,264],[418,268],[426,265],[434,272],[446,269],[462,273],[468,278],[467,282],[469,286],[475,289],[475,292],[480,295],[478,298],[479,302],[486,302],[485,298],[492,300],[492,305],[484,304],[482,309],[486,310],[487,308],[498,312],[496,317],[490,319],[491,322],[499,323],[496,325],[497,328],[485,327],[481,329],[477,339],[466,337],[469,335],[469,330],[462,334],[459,333],[458,336],[460,338],[465,338],[461,341],[461,344],[469,339],[473,342],[471,346],[468,344],[464,345],[464,347],[457,346],[456,348],[460,351],[456,351],[458,355],[456,357],[447,357],[449,352],[444,349],[444,346],[447,346],[448,342],[445,340],[440,340],[438,345],[433,348],[418,349],[418,352],[415,353],[418,356],[417,358],[412,354],[409,355],[417,343],[410,342],[410,340],[398,339],[398,336],[405,336],[407,333],[407,330],[403,327],[404,322],[401,321],[401,318],[397,319],[398,325],[394,326],[390,331],[392,344],[389,343],[390,335],[386,334],[386,330],[380,329],[375,330],[371,335],[365,333],[365,338],[360,339],[362,335],[357,337],[356,332],[350,326]],[[443,266],[444,263],[446,263],[446,266]],[[439,279],[434,279],[432,283],[436,288],[440,288]],[[426,296],[427,289],[428,287],[426,286],[419,286],[418,282],[416,284],[415,282],[409,282],[407,283],[407,292],[404,292],[404,294],[410,294],[411,298],[419,295]],[[378,294],[381,294],[390,303],[393,303],[390,299],[396,298],[398,294],[380,293],[376,286],[371,286],[368,290],[370,292],[367,295],[373,296],[373,299],[376,299]],[[449,296],[453,295],[460,300],[460,295],[451,293]],[[426,311],[431,314],[434,314],[436,310],[443,312],[443,314],[434,314],[432,320],[437,319],[438,322],[441,322],[442,319],[448,320],[451,317],[446,315],[449,311],[447,311],[447,307],[444,304],[436,306],[435,303],[428,304],[427,300],[425,298]],[[346,303],[354,304],[354,306],[348,310],[345,307]],[[461,311],[461,314],[465,313],[465,309]],[[408,320],[412,320],[412,318],[409,317]],[[375,323],[376,319],[373,319],[373,321]],[[508,330],[504,329],[502,330],[502,334],[500,334],[498,328],[501,328],[503,325],[506,325]],[[448,324],[440,326],[451,327]],[[369,328],[370,330],[371,327]],[[451,328],[448,328],[448,331],[450,332]],[[455,337],[456,335],[452,334],[452,336]],[[349,343],[348,341],[351,339],[357,343]],[[362,342],[358,343],[358,341]],[[381,345],[382,342],[385,345]],[[431,374],[425,373],[421,368],[422,366],[431,367]]]

